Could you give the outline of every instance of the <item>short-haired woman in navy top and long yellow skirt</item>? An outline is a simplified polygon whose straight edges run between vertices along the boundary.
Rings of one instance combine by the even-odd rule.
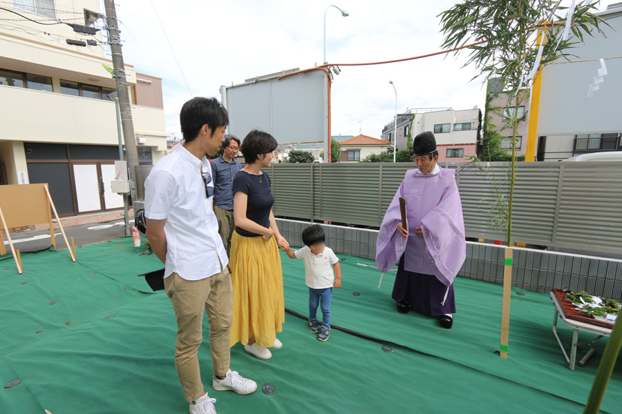
[[[234,288],[231,345],[238,342],[261,359],[270,359],[268,348],[281,348],[276,333],[283,331],[285,302],[279,246],[288,242],[279,233],[272,214],[274,196],[270,177],[261,171],[270,166],[276,139],[252,130],[240,150],[246,166],[234,178],[234,220],[230,264]]]

